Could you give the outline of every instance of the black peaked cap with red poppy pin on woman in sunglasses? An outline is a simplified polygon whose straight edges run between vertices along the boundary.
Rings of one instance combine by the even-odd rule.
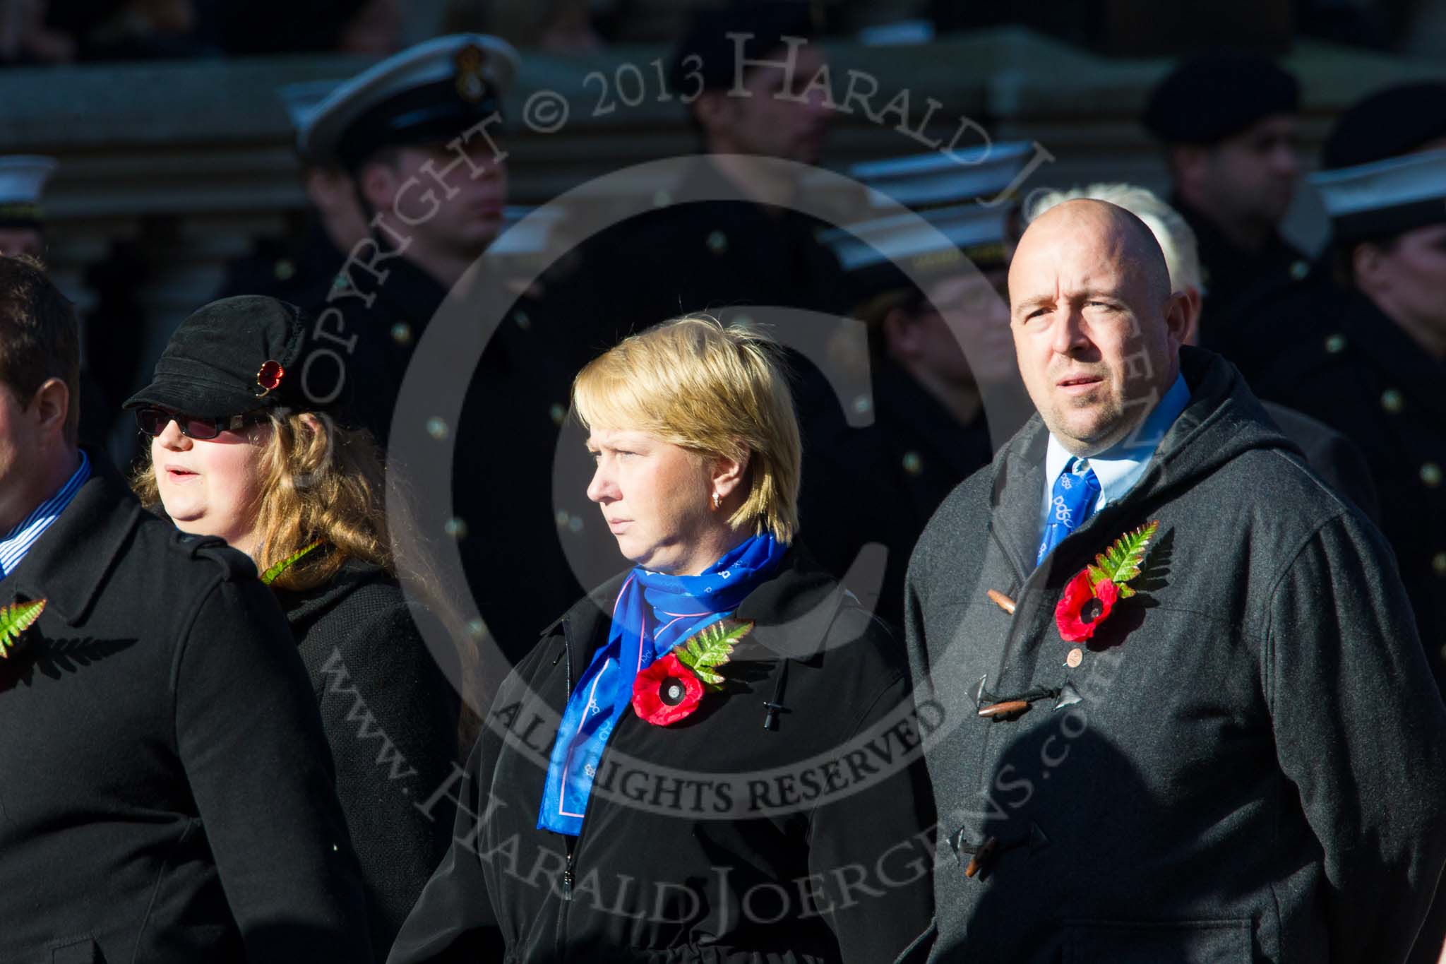
[[[302,390],[309,332],[305,312],[283,301],[262,295],[214,301],[181,322],[150,384],[124,408],[156,405],[205,418],[281,406],[321,409]]]

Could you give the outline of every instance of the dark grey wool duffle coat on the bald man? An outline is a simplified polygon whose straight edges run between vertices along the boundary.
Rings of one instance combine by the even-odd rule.
[[[915,700],[943,718],[931,961],[1388,964],[1426,915],[1446,710],[1391,551],[1233,366],[1180,358],[1190,403],[1144,477],[1041,567],[1038,416],[914,552]],[[1137,595],[1070,668],[1064,584],[1151,520]],[[1034,702],[980,717],[980,679],[979,704]]]

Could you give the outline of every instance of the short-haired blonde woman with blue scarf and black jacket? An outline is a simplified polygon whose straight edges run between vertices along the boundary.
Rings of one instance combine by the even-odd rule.
[[[897,642],[795,538],[777,345],[684,318],[573,400],[632,568],[503,684],[389,960],[894,960],[931,912],[927,720]]]

